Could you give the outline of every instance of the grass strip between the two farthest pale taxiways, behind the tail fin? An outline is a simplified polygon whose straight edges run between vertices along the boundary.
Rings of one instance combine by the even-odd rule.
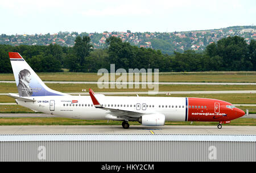
[[[49,88],[60,92],[82,92],[82,89],[89,91],[92,88],[95,92],[121,92],[121,91],[153,91],[154,88],[98,88],[97,84],[59,84],[47,83]],[[159,91],[228,91],[228,90],[256,90],[256,85],[159,85]],[[0,83],[0,92],[18,92],[15,83]]]

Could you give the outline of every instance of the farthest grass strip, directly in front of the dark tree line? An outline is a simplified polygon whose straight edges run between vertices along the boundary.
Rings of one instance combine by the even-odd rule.
[[[38,75],[43,81],[98,81],[101,77],[97,73],[71,72]],[[117,78],[118,75],[115,76],[115,79]],[[154,81],[154,75],[152,80]],[[14,81],[14,75],[0,74],[0,81]],[[159,82],[256,82],[256,71],[159,73]]]

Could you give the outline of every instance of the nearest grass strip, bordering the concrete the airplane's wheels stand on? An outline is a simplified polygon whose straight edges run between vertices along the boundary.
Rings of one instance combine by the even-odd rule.
[[[0,118],[0,125],[120,125],[122,121],[76,120],[67,118]],[[141,125],[129,122],[130,125]],[[166,122],[166,125],[217,125],[218,122]],[[256,125],[256,119],[236,119],[225,125]]]

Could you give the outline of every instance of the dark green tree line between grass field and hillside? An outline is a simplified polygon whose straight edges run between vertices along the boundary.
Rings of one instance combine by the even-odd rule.
[[[243,37],[227,37],[207,46],[204,52],[164,54],[138,48],[118,37],[106,39],[104,49],[94,49],[90,37],[77,36],[74,47],[57,44],[0,45],[0,73],[12,73],[8,52],[19,52],[36,72],[97,72],[98,69],[159,69],[164,71],[251,71],[256,70],[256,41],[248,45]]]

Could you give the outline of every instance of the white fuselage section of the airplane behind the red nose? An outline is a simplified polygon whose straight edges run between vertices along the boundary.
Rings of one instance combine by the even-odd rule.
[[[106,108],[136,111],[140,113],[161,113],[166,121],[185,121],[185,98],[145,96],[104,96],[97,95]],[[111,112],[95,108],[90,96],[35,96],[35,102],[16,102],[24,107],[56,116],[84,120],[108,120]],[[138,116],[131,116],[135,121]],[[113,119],[112,119],[113,120]],[[115,119],[123,120],[123,119]]]

